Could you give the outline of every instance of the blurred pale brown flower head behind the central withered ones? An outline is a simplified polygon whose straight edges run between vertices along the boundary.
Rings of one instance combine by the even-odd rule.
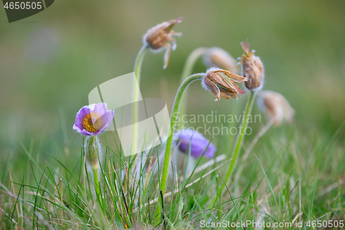
[[[237,61],[228,52],[219,47],[208,48],[206,50],[204,64],[208,68],[218,67],[235,74],[239,73]]]

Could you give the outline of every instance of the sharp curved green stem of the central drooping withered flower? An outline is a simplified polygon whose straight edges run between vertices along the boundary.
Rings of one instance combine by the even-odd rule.
[[[179,115],[179,106],[181,104],[182,95],[184,94],[184,91],[186,90],[187,86],[190,83],[197,81],[199,79],[202,79],[204,76],[205,76],[204,73],[191,75],[186,80],[184,80],[181,86],[179,86],[179,90],[177,90],[175,102],[174,102],[174,105],[172,106],[172,112],[171,112],[171,118],[170,118],[170,136],[168,137],[168,140],[166,141],[166,153],[164,155],[163,171],[161,173],[161,191],[163,192],[163,195],[166,192],[166,182],[168,181],[168,168],[169,168],[169,162],[170,162],[172,136],[174,135],[174,132],[175,132],[176,120],[177,120],[177,116]]]

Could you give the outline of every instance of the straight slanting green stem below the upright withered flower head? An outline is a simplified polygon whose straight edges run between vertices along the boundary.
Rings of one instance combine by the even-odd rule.
[[[229,180],[229,178],[231,176],[231,173],[233,173],[233,169],[235,168],[235,164],[237,162],[237,158],[239,156],[239,152],[241,151],[243,140],[244,140],[244,137],[246,136],[246,128],[247,128],[247,125],[248,125],[247,120],[248,120],[248,117],[250,115],[250,112],[252,111],[255,95],[256,95],[256,91],[251,91],[250,92],[250,97],[249,97],[248,103],[246,105],[246,113],[244,115],[242,126],[241,126],[241,128],[239,130],[239,136],[237,138],[237,144],[236,144],[235,152],[233,154],[233,160],[231,160],[230,167],[228,169],[228,173],[226,173],[225,183],[228,182],[228,180]],[[224,190],[224,187],[225,187],[225,184],[223,184],[221,186],[221,192]]]

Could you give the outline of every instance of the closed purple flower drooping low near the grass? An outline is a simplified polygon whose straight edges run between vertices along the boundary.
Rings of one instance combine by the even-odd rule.
[[[215,156],[216,146],[197,131],[184,129],[179,132],[178,138],[179,151],[182,153],[188,153],[188,146],[190,144],[190,155],[192,157],[201,157],[204,152],[205,157],[212,158]]]

